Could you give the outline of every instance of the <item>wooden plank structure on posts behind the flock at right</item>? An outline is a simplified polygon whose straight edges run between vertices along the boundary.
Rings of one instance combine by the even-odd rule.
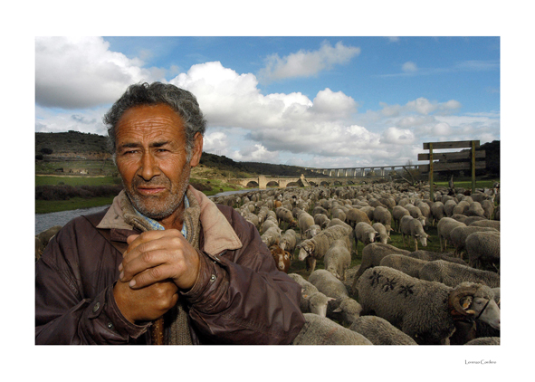
[[[471,148],[470,151],[433,153],[434,149],[441,148]],[[479,148],[479,140],[459,140],[450,142],[427,142],[424,149],[429,154],[418,154],[418,160],[429,160],[429,165],[420,166],[420,171],[429,172],[429,198],[435,201],[433,187],[434,171],[453,171],[472,169],[472,192],[475,192],[475,170],[486,167],[485,161],[476,161],[476,158],[485,158],[484,151],[475,151]],[[452,160],[470,159],[470,161],[451,162]],[[438,160],[438,162],[435,162]]]

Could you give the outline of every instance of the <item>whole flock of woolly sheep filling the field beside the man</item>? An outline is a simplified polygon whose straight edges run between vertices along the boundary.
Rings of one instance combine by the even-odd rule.
[[[293,344],[500,344],[498,184],[474,194],[438,187],[435,201],[426,185],[396,183],[214,201],[256,226],[277,267],[301,284],[306,324]],[[392,232],[402,248],[388,244]],[[418,249],[427,240],[440,252]]]

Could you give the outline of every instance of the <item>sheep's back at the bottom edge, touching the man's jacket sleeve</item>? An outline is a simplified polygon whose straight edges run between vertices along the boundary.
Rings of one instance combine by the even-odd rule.
[[[373,345],[356,331],[317,314],[304,313],[305,324],[291,345]]]

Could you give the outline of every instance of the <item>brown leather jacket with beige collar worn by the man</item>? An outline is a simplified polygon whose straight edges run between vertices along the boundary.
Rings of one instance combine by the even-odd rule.
[[[194,287],[180,292],[193,343],[291,343],[304,325],[301,287],[276,269],[253,224],[231,207],[215,207],[198,191],[196,196],[201,268]],[[115,204],[99,224],[108,228],[97,229],[90,220],[81,216],[66,224],[35,265],[35,343],[148,344],[151,323],[130,323],[115,303],[122,253],[104,237],[126,248],[129,234],[139,232],[124,226]]]

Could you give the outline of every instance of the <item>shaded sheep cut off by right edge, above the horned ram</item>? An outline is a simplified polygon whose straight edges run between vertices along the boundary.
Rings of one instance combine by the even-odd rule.
[[[468,264],[473,268],[496,269],[500,263],[500,232],[474,232],[466,237]]]

